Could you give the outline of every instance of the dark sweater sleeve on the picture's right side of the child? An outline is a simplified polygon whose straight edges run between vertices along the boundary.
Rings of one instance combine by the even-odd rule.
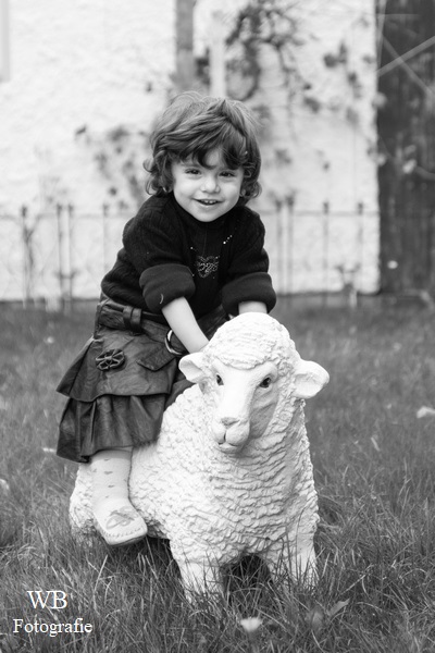
[[[227,281],[222,288],[222,305],[229,315],[238,313],[241,301],[262,301],[268,311],[272,310],[276,294],[268,270],[264,225],[260,217],[249,210],[236,230]]]

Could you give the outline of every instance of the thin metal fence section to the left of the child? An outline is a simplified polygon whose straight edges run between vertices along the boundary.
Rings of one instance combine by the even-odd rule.
[[[128,214],[76,213],[73,206],[0,217],[0,300],[48,306],[95,298],[121,247]]]

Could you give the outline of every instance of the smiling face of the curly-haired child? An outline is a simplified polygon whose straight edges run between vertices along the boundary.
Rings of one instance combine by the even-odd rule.
[[[192,159],[172,163],[174,196],[199,222],[213,222],[236,206],[244,169],[228,169],[217,149],[206,159],[207,168]]]

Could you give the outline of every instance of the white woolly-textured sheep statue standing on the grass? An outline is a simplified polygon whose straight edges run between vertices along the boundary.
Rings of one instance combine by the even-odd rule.
[[[303,399],[328,381],[263,313],[222,325],[179,368],[194,382],[163,417],[158,442],[134,451],[130,500],[149,534],[170,540],[186,590],[222,588],[244,555],[315,582],[318,522]],[[92,531],[90,472],[71,497],[73,534]]]

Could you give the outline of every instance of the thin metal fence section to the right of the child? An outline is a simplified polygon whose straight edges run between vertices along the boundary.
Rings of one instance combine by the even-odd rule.
[[[262,212],[275,288],[296,293],[374,293],[378,287],[380,217],[355,210],[296,210],[278,202]]]

